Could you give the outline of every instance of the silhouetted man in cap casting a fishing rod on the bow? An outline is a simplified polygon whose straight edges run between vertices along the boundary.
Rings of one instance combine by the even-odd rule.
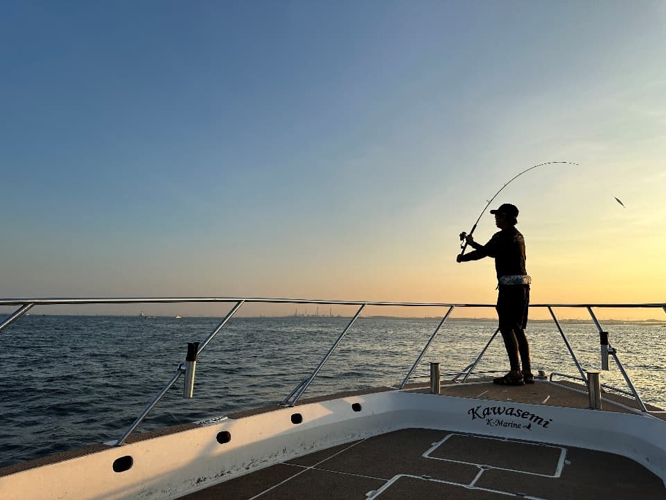
[[[534,382],[529,361],[529,343],[525,337],[527,308],[529,306],[529,283],[531,278],[525,271],[525,238],[516,229],[518,208],[510,203],[491,210],[495,215],[495,225],[500,231],[486,244],[478,244],[472,235],[467,235],[467,244],[474,249],[470,253],[459,254],[457,262],[479,260],[484,257],[495,259],[498,279],[497,314],[500,332],[509,355],[511,371],[504,377],[493,379],[500,385],[522,386]],[[523,370],[520,370],[520,361]]]

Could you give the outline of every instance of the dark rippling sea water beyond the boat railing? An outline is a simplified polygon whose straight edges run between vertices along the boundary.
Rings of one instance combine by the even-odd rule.
[[[203,341],[220,319],[137,316],[24,316],[0,332],[0,466],[119,438],[184,359],[186,342]],[[342,317],[234,318],[197,365],[195,397],[182,380],[157,404],[140,431],[277,404],[315,369],[349,323]],[[304,398],[402,382],[439,319],[360,318]],[[644,402],[666,407],[666,357],[660,325],[604,325]],[[470,364],[496,321],[444,323],[429,361],[442,373]],[[563,329],[583,368],[599,369],[592,324]],[[530,323],[534,370],[577,374],[555,325]],[[500,335],[477,370],[504,370]],[[620,371],[602,382],[626,389]],[[452,377],[445,377],[452,378]],[[423,379],[425,381],[427,379]]]

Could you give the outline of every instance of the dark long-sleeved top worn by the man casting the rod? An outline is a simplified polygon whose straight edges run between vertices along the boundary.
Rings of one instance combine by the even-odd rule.
[[[463,261],[479,260],[484,257],[495,259],[495,269],[498,279],[500,276],[527,275],[525,271],[525,238],[511,226],[493,234],[484,245],[462,256]]]

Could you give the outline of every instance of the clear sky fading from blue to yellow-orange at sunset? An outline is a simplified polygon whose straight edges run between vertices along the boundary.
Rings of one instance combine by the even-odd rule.
[[[492,304],[458,234],[570,161],[493,202],[532,303],[666,302],[663,1],[2,11],[0,297]]]

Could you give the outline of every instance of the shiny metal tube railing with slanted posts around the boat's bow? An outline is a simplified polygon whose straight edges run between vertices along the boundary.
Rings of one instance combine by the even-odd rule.
[[[164,397],[164,395],[168,392],[168,390],[177,382],[179,377],[181,375],[186,375],[186,381],[189,380],[190,384],[193,384],[193,377],[194,377],[194,370],[192,368],[191,371],[190,368],[193,365],[193,362],[195,363],[196,359],[198,356],[201,354],[201,352],[207,348],[209,343],[213,340],[214,337],[222,330],[222,328],[225,327],[225,325],[228,323],[228,321],[231,319],[231,317],[240,310],[240,307],[242,307],[245,303],[288,303],[288,304],[314,304],[314,305],[356,305],[359,306],[358,310],[356,311],[356,314],[353,315],[351,318],[351,321],[347,323],[345,326],[344,330],[338,335],[337,339],[335,339],[335,342],[331,346],[331,348],[328,349],[328,352],[326,352],[326,355],[324,355],[324,358],[322,361],[319,362],[315,370],[308,375],[303,381],[301,381],[295,389],[281,402],[283,406],[288,406],[288,407],[293,407],[301,396],[305,393],[305,391],[308,389],[308,386],[315,380],[315,377],[317,377],[317,374],[319,373],[319,370],[322,369],[324,364],[326,364],[326,361],[328,361],[328,358],[331,357],[335,349],[340,345],[340,342],[342,342],[342,339],[344,336],[349,332],[353,324],[356,322],[358,317],[360,316],[361,312],[365,309],[367,306],[385,306],[385,307],[447,307],[448,309],[446,310],[446,314],[442,317],[441,321],[437,325],[437,328],[435,328],[435,331],[432,332],[430,337],[428,338],[428,341],[426,342],[426,345],[423,346],[423,349],[417,356],[417,359],[414,361],[414,364],[412,364],[410,370],[408,371],[407,375],[405,375],[403,381],[401,384],[399,384],[398,389],[403,389],[405,384],[407,384],[410,380],[414,378],[419,378],[419,376],[414,376],[414,372],[417,370],[419,364],[421,363],[423,357],[426,355],[426,352],[428,352],[428,348],[430,348],[430,345],[432,344],[432,341],[435,340],[435,337],[437,337],[437,333],[441,329],[441,326],[446,322],[450,314],[453,312],[453,310],[456,307],[459,308],[469,308],[469,307],[477,307],[477,308],[484,308],[484,307],[491,307],[494,308],[494,304],[474,304],[474,303],[410,303],[410,302],[382,302],[382,301],[328,301],[328,300],[312,300],[312,299],[299,299],[299,298],[258,298],[258,297],[244,297],[244,298],[239,298],[239,297],[150,297],[150,298],[141,298],[141,297],[135,297],[135,298],[3,298],[0,299],[0,306],[19,306],[17,310],[9,314],[5,319],[3,319],[0,323],[0,332],[4,328],[6,328],[8,325],[13,323],[14,321],[17,321],[21,316],[26,314],[32,307],[35,305],[86,305],[86,304],[158,304],[158,303],[233,303],[231,309],[229,312],[227,312],[227,315],[220,321],[220,323],[216,326],[216,328],[211,332],[204,341],[201,343],[194,343],[195,347],[195,355],[190,356],[186,358],[186,361],[182,362],[179,364],[176,372],[174,375],[170,378],[170,380],[167,382],[167,384],[164,386],[161,391],[153,398],[153,400],[146,406],[146,408],[143,410],[141,415],[137,417],[134,422],[132,422],[132,425],[125,431],[123,436],[119,438],[115,445],[120,446],[122,445],[125,440],[134,432],[139,425],[141,425],[141,422],[148,416],[148,413],[152,411],[153,408],[155,408],[155,405],[161,400],[161,398]],[[626,382],[627,386],[629,387],[629,391],[623,391],[622,389],[617,389],[613,386],[608,386],[606,384],[602,384],[602,386],[606,389],[617,391],[619,393],[622,393],[624,395],[629,395],[633,397],[636,402],[638,403],[638,406],[640,407],[640,411],[643,413],[648,413],[647,408],[645,407],[645,404],[642,402],[640,395],[638,395],[638,391],[636,391],[636,387],[633,385],[631,382],[631,378],[629,375],[626,373],[626,370],[624,369],[624,366],[620,362],[620,359],[617,357],[617,350],[611,346],[611,343],[608,341],[608,332],[604,331],[602,328],[602,325],[599,323],[597,316],[595,315],[593,309],[607,309],[607,308],[612,308],[612,309],[624,309],[624,308],[631,308],[631,309],[636,309],[636,308],[660,308],[666,313],[666,303],[596,303],[596,304],[590,304],[590,303],[572,303],[572,304],[530,304],[530,308],[546,308],[548,312],[550,312],[550,315],[552,316],[552,319],[554,321],[554,324],[557,327],[557,330],[561,334],[561,337],[568,349],[568,352],[572,358],[572,360],[575,362],[576,367],[579,371],[580,377],[572,377],[570,375],[566,374],[560,374],[560,373],[552,373],[551,374],[551,380],[553,375],[562,375],[564,377],[572,378],[575,380],[580,380],[584,383],[587,382],[587,377],[586,377],[586,372],[582,368],[580,362],[578,361],[574,351],[572,350],[570,343],[568,339],[566,338],[566,334],[564,334],[561,325],[557,319],[557,316],[555,316],[553,308],[554,307],[565,307],[565,308],[584,308],[588,311],[588,314],[590,314],[590,318],[592,319],[593,323],[597,327],[597,330],[599,332],[599,339],[600,339],[600,348],[601,348],[601,361],[602,361],[602,369],[603,370],[608,370],[608,357],[612,356],[613,359],[615,360],[615,364],[617,364],[617,368],[620,370],[620,373],[622,373],[622,377],[624,377],[624,381]],[[461,370],[460,372],[455,373],[453,377],[453,382],[457,382],[460,377],[462,377],[462,382],[466,382],[468,377],[472,373],[478,373],[474,371],[474,368],[477,366],[479,361],[482,359],[484,353],[486,352],[488,346],[490,343],[493,341],[493,339],[497,336],[499,332],[499,328],[495,330],[489,341],[486,343],[484,348],[481,350],[479,355],[475,358],[475,361],[473,363],[469,364]],[[193,353],[194,354],[194,353]],[[488,372],[484,372],[488,373]],[[187,391],[184,391],[185,393]],[[186,396],[187,397],[187,396]],[[191,397],[191,388],[190,388],[190,396]]]

